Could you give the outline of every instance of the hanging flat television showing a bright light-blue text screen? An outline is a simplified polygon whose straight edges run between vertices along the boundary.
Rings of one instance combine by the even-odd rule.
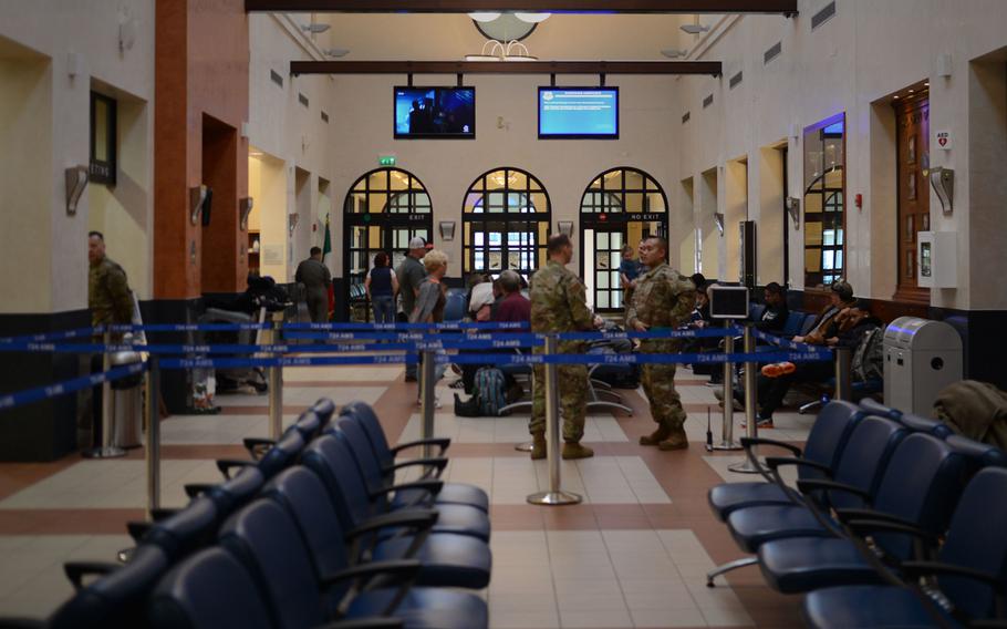
[[[539,87],[540,140],[619,140],[619,87]]]

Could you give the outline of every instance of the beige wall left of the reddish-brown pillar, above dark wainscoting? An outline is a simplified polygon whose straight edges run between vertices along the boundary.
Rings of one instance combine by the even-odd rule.
[[[120,48],[123,23],[131,23],[135,32],[128,50]],[[44,72],[40,74],[38,69],[31,69],[37,62],[18,56],[17,51],[23,49],[46,60]],[[31,223],[14,231],[18,243],[0,248],[0,264],[6,268],[31,269],[37,278],[33,282],[22,279],[11,292],[19,298],[6,300],[0,311],[55,312],[86,308],[86,234],[92,195],[84,194],[76,215],[68,216],[63,173],[69,166],[87,164],[92,85],[101,84],[114,95],[131,100],[138,107],[132,114],[127,112],[132,147],[120,155],[120,176],[131,189],[115,194],[128,203],[131,216],[143,217],[138,225],[150,224],[153,116],[144,110],[154,97],[154,2],[0,1],[0,60],[12,63],[17,72],[27,71],[32,75],[31,81],[41,79],[33,90],[22,89],[20,99],[7,89],[7,81],[0,90],[0,102],[4,103],[0,106],[20,110],[22,115],[31,114],[30,121],[22,120],[10,131],[0,132],[0,154],[18,155],[20,161],[11,169],[4,168],[3,176],[13,177],[17,173],[15,178],[0,179],[4,231],[10,225],[9,214],[18,217],[14,224],[28,217]],[[128,164],[126,156],[131,157]],[[29,214],[17,208],[15,204],[23,202],[7,200],[25,182],[31,183],[32,189],[38,186]],[[149,241],[149,237],[147,230],[144,238]],[[108,245],[110,251],[120,246]],[[134,245],[124,244],[123,250],[133,249]],[[150,259],[149,246],[146,256],[136,256],[131,278],[141,286],[149,286]],[[27,264],[27,260],[32,261]],[[12,277],[20,279],[24,275]],[[139,297],[148,298],[149,293],[141,291]]]

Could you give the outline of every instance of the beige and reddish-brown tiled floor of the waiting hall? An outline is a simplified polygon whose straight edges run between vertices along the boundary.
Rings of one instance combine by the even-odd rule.
[[[798,599],[769,590],[757,569],[733,573],[715,589],[705,574],[740,557],[710,515],[706,492],[721,481],[750,481],[728,471],[737,452],[707,453],[707,412],[719,441],[721,412],[705,379],[679,370],[693,446],[664,453],[637,445],[653,430],[640,391],[620,391],[632,415],[594,411],[584,442],[594,458],[562,462],[562,485],[580,505],[538,507],[528,494],[548,487],[544,461],[513,445],[529,439],[527,415],[456,417],[456,392],[438,386],[444,408],[435,432],[450,436],[449,481],[482,486],[491,499],[494,575],[484,592],[491,625],[507,627],[760,627],[800,626]],[[416,385],[398,367],[292,368],[284,373],[284,424],[320,396],[375,405],[392,442],[419,436]],[[219,478],[212,460],[241,455],[245,436],[264,436],[267,398],[218,395],[218,415],[162,422],[163,496],[184,504],[186,483]],[[735,439],[744,431],[734,414]],[[813,416],[778,413],[767,436],[800,442]],[[53,464],[0,464],[0,615],[44,616],[71,594],[62,574],[70,559],[112,560],[129,545],[123,525],[143,517],[142,450],[127,458]],[[724,585],[728,584],[728,585]]]

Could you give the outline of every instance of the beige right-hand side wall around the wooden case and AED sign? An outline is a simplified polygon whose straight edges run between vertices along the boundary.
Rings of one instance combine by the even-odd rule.
[[[892,115],[887,105],[878,103],[893,92],[924,79],[931,82],[931,131],[951,131],[955,137],[952,151],[936,151],[931,142],[931,164],[956,169],[956,210],[943,216],[936,196],[932,194],[932,229],[958,233],[958,287],[933,291],[932,303],[955,308],[1007,308],[1007,296],[989,298],[975,292],[975,252],[995,247],[977,247],[980,233],[970,225],[972,215],[982,212],[990,217],[986,202],[970,203],[970,196],[988,190],[1003,176],[985,172],[969,155],[977,135],[1004,116],[995,113],[996,97],[990,89],[979,87],[973,74],[972,61],[1007,45],[1007,29],[1003,20],[992,19],[1004,11],[997,0],[947,2],[943,0],[838,0],[837,14],[813,32],[811,16],[824,2],[800,0],[800,16],[785,19],[768,16],[734,17],[726,20],[704,18],[719,24],[699,45],[699,59],[724,62],[721,79],[686,76],[678,80],[676,94],[679,110],[672,116],[679,121],[674,136],[679,148],[676,179],[698,176],[712,167],[723,167],[736,155],[758,155],[766,146],[787,137],[790,148],[789,196],[802,197],[802,154],[800,137],[791,130],[803,128],[837,113],[847,114],[847,268],[857,293],[890,299],[895,286],[894,173],[887,162],[894,153]],[[764,65],[762,53],[782,41],[782,54]],[[952,73],[939,78],[937,58],[949,54]],[[1000,70],[990,71],[990,85],[1003,82]],[[741,85],[728,89],[728,79],[738,70],[744,72]],[[999,83],[1001,84],[1001,83]],[[996,92],[998,87],[993,87]],[[702,100],[714,94],[714,105],[702,107]],[[987,101],[986,104],[982,104]],[[684,112],[692,120],[681,124]],[[985,112],[985,113],[980,113]],[[893,124],[893,123],[892,123]],[[983,128],[983,132],[973,130]],[[994,134],[995,135],[995,134]],[[980,149],[985,153],[985,149]],[[983,163],[995,162],[984,159]],[[777,194],[760,189],[778,185],[775,177],[764,177],[766,163],[749,161],[749,199],[760,207],[752,215],[762,221],[770,213],[782,213],[776,205]],[[972,182],[975,177],[975,182]],[[862,194],[862,209],[853,207],[852,198]],[[994,185],[993,197],[1003,206],[1007,195]],[[721,210],[727,199],[720,199]],[[990,203],[993,203],[990,200]],[[760,225],[760,228],[762,225]],[[767,226],[768,227],[768,226]],[[777,227],[771,227],[774,231]],[[1001,230],[992,230],[999,234]],[[983,234],[990,230],[984,229]],[[975,235],[975,236],[973,236]],[[736,237],[727,231],[728,237]],[[803,283],[803,252],[800,231],[791,233],[789,277],[798,288]],[[760,237],[760,241],[762,238]],[[982,255],[980,255],[982,256]],[[708,258],[704,250],[704,270]],[[1007,271],[1003,256],[997,260],[983,259],[983,274],[989,264],[1000,272]],[[728,267],[729,268],[729,267]],[[760,278],[767,281],[760,269]]]

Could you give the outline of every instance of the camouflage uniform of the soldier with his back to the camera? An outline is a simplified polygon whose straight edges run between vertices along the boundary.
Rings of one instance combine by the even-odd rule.
[[[531,278],[531,330],[533,332],[578,332],[591,330],[594,314],[588,309],[584,285],[567,267],[549,260]],[[541,353],[536,348],[534,353]],[[562,341],[560,353],[582,353],[583,341]],[[546,368],[533,368],[531,423],[532,435],[546,432]],[[560,388],[560,409],[563,415],[563,441],[580,442],[584,435],[588,414],[588,367],[584,364],[557,365]]]

